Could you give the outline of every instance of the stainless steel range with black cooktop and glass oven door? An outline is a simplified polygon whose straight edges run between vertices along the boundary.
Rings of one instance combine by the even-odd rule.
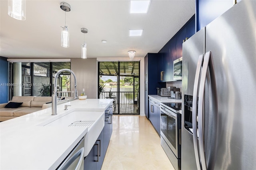
[[[160,103],[161,146],[176,170],[180,170],[181,103]]]

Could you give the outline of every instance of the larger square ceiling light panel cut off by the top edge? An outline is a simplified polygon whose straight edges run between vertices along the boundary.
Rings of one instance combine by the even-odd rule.
[[[150,0],[131,0],[130,13],[147,13]]]

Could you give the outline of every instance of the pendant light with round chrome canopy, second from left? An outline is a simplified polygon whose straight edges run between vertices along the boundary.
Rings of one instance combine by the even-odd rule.
[[[60,8],[65,11],[65,26],[62,27],[61,46],[69,47],[69,32],[68,32],[68,26],[66,26],[66,12],[69,12],[71,7],[66,2],[60,2]]]

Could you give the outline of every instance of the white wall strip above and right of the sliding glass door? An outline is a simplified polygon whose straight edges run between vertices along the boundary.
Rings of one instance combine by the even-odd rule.
[[[97,58],[97,61],[130,61],[127,58]],[[145,116],[144,110],[144,57],[134,58],[133,61],[140,61],[140,116]]]

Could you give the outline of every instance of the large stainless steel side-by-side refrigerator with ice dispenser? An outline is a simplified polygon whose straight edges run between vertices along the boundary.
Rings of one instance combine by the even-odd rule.
[[[256,169],[256,1],[183,43],[181,169]]]

